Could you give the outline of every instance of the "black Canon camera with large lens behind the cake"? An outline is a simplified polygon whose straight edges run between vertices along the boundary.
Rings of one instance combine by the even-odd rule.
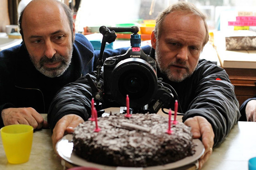
[[[156,62],[140,47],[130,47],[120,56],[108,57],[103,65],[104,95],[121,105],[130,98],[131,108],[149,103],[157,91]]]

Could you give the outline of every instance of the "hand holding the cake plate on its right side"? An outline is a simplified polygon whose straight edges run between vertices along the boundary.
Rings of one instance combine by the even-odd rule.
[[[212,125],[207,121],[206,118],[202,116],[195,116],[193,118],[188,118],[184,124],[190,126],[193,138],[201,138],[205,151],[204,154],[199,159],[199,169],[203,167],[203,164],[209,159],[210,155],[213,153],[213,139],[214,133]]]

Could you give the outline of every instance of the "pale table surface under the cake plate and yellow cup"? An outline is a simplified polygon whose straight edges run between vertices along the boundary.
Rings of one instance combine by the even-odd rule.
[[[106,111],[106,110],[105,110]],[[106,111],[107,112],[107,111]],[[162,113],[163,116],[167,116]],[[47,115],[43,114],[46,118]],[[179,117],[181,121],[181,117]],[[256,157],[256,123],[238,122],[222,144],[213,148],[213,154],[203,170],[248,170],[248,160]],[[62,161],[62,163],[64,163]],[[24,164],[8,163],[0,139],[0,170],[62,170],[61,160],[53,151],[50,129],[35,131],[30,159]],[[185,169],[195,169],[188,166]]]

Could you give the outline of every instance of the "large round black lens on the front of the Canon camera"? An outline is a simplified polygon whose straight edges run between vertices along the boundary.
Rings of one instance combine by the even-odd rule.
[[[157,90],[155,69],[140,58],[128,58],[119,62],[112,71],[110,81],[113,99],[125,106],[128,94],[131,108],[148,104]]]

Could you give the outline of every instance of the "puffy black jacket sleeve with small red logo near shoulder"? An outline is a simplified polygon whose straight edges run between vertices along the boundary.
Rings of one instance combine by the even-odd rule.
[[[204,61],[207,62],[207,61]],[[194,76],[195,98],[182,118],[202,116],[213,127],[214,146],[220,144],[240,118],[239,103],[228,74],[214,64],[203,64]]]

